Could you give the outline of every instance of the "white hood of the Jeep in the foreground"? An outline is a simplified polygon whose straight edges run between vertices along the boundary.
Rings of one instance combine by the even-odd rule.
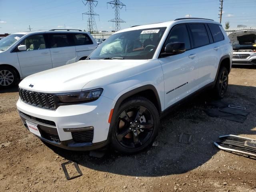
[[[105,76],[111,76],[113,78],[118,72],[145,64],[147,61],[82,60],[30,75],[20,82],[19,87],[44,93],[81,91],[92,80]]]

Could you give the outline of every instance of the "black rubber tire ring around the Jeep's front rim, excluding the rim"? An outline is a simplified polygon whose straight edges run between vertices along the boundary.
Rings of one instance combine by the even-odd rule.
[[[116,133],[115,133],[116,132],[116,121],[117,121],[120,113],[123,110],[125,110],[129,106],[134,106],[134,105],[144,106],[150,111],[150,113],[152,114],[153,119],[154,119],[154,129],[153,129],[153,132],[152,132],[150,138],[148,139],[148,141],[146,141],[146,143],[144,143],[142,146],[140,146],[138,148],[126,148],[126,147],[122,146],[116,138]],[[135,153],[138,153],[138,152],[148,148],[149,146],[151,146],[151,144],[154,142],[154,139],[156,138],[156,136],[158,134],[158,129],[160,126],[160,118],[159,118],[158,110],[156,109],[154,104],[152,102],[150,102],[150,100],[143,98],[143,97],[131,98],[131,99],[124,101],[120,105],[120,108],[118,108],[118,112],[112,120],[114,120],[114,123],[113,123],[113,127],[112,127],[111,144],[116,150],[118,150],[121,153],[125,153],[125,154],[135,154]]]

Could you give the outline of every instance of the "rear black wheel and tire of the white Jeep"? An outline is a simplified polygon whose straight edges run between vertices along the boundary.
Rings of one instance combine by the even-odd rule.
[[[214,94],[216,98],[222,99],[224,98],[227,90],[228,90],[228,70],[226,67],[221,66],[218,72],[216,84],[214,86]]]

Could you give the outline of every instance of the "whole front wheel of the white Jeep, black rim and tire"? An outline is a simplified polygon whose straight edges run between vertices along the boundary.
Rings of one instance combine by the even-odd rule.
[[[125,100],[113,120],[112,146],[125,154],[138,153],[151,146],[160,126],[156,106],[144,97]]]

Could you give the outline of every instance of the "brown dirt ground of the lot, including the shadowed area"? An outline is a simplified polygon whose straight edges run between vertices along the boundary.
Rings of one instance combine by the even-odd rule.
[[[0,191],[256,192],[256,159],[213,144],[225,134],[256,139],[256,67],[232,68],[229,77],[224,101],[246,106],[244,123],[207,116],[206,93],[161,120],[157,146],[132,156],[110,149],[103,158],[49,148],[22,125],[18,88],[1,90]],[[191,144],[178,143],[182,132],[192,134]],[[66,180],[61,164],[68,160],[78,163],[81,177]]]

